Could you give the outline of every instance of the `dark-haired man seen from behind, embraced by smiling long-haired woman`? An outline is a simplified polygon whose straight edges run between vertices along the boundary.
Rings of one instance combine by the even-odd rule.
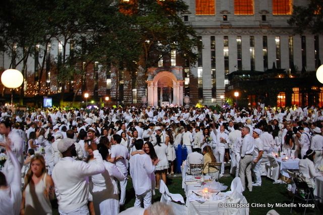
[[[144,149],[144,144],[142,139],[135,141],[135,147],[138,151]],[[132,178],[133,188],[136,194],[135,207],[141,207],[141,202],[143,201],[144,208],[151,205],[151,173],[155,170],[155,165],[159,162],[156,159],[153,163],[148,154],[135,154],[130,160],[130,175]]]

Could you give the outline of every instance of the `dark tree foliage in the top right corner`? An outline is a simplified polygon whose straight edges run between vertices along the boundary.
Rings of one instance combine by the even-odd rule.
[[[295,26],[295,33],[300,35],[305,30],[313,34],[323,33],[323,1],[310,0],[307,7],[294,6],[288,24]]]

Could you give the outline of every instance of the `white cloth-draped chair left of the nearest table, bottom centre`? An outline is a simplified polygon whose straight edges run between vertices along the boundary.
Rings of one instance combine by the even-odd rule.
[[[165,202],[166,204],[171,205],[173,208],[174,214],[179,214],[179,215],[187,214],[187,207],[185,205],[175,203],[180,201],[181,203],[184,204],[185,202],[184,202],[183,196],[181,194],[170,193],[167,185],[163,180],[160,180],[159,182],[159,192],[161,193],[160,202]]]

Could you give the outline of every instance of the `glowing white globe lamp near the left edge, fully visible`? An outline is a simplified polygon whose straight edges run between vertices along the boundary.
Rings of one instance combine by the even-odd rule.
[[[21,74],[21,72],[15,69],[6,70],[1,75],[1,82],[7,88],[20,87],[23,81],[24,81],[23,75]]]

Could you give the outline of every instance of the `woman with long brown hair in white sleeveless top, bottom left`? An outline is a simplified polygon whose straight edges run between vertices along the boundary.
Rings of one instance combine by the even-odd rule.
[[[49,198],[53,197],[53,187],[51,177],[46,174],[44,157],[36,154],[25,176],[21,214],[52,214]]]

